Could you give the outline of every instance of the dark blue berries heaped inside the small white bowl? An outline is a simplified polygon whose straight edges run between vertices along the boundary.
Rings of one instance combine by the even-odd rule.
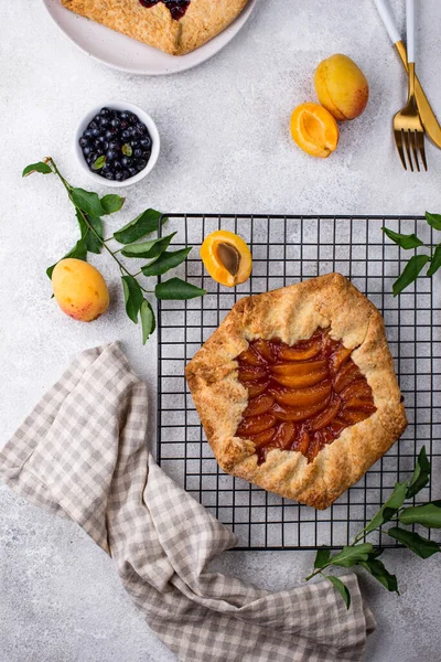
[[[79,147],[93,172],[122,182],[146,168],[152,140],[135,113],[101,108],[79,138]]]

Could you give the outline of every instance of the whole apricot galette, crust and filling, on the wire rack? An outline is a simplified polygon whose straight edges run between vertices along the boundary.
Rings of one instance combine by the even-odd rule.
[[[340,274],[241,299],[186,378],[222,469],[316,509],[407,425],[381,316]]]

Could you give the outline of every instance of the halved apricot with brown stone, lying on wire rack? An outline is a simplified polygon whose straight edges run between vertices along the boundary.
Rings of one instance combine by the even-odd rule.
[[[251,274],[250,249],[241,237],[226,229],[205,237],[201,257],[213,280],[226,287],[245,282]]]

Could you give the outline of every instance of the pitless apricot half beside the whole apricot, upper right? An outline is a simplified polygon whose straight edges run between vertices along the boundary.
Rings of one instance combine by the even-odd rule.
[[[291,136],[311,157],[326,159],[338,145],[335,118],[320,104],[301,104],[291,115]]]

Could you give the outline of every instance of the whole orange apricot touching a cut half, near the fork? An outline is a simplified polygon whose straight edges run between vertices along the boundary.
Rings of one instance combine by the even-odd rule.
[[[337,53],[323,60],[315,70],[319,102],[335,119],[355,119],[369,98],[369,86],[362,70],[347,55]]]

